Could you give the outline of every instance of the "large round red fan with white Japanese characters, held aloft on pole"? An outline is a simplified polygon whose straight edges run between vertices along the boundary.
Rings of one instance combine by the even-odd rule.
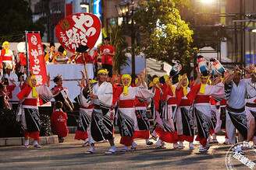
[[[94,47],[101,33],[101,21],[90,13],[78,13],[62,19],[55,28],[55,35],[66,50]]]

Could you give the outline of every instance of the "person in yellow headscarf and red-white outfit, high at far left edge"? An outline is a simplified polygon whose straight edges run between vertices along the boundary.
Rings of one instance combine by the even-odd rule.
[[[10,68],[15,67],[15,57],[12,53],[12,50],[9,49],[9,42],[5,41],[2,43],[3,49],[1,50],[1,58],[2,58],[2,64],[3,68],[5,68],[7,65],[9,65]]]

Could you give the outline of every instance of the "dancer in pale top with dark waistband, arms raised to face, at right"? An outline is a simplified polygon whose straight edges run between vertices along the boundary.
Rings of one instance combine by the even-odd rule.
[[[229,75],[227,71],[226,75]],[[236,144],[236,129],[239,131],[238,141],[247,139],[247,117],[245,111],[245,95],[247,83],[251,79],[241,79],[242,71],[237,66],[232,71],[232,75],[225,81],[226,95],[226,134],[230,144]],[[244,154],[242,147],[235,148],[236,152]]]

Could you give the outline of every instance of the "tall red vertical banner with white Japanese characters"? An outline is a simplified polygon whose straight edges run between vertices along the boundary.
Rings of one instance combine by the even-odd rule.
[[[41,43],[40,33],[27,33],[29,48],[30,70],[37,78],[37,86],[47,82],[47,71],[44,63],[44,51]]]

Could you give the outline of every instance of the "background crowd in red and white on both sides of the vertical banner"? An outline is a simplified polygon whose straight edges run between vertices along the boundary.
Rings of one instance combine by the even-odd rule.
[[[100,47],[91,50],[91,54],[66,52],[64,47],[55,48],[55,43],[50,43],[47,47],[43,44],[45,64],[93,64],[94,73],[101,68]],[[14,50],[14,49],[13,49]],[[48,51],[48,52],[46,52]],[[12,99],[12,91],[16,88],[15,82],[20,82],[19,86],[27,78],[27,57],[24,52],[15,54],[9,49],[9,42],[5,41],[0,47],[0,106],[10,108],[8,100]],[[17,87],[19,88],[19,87]]]

